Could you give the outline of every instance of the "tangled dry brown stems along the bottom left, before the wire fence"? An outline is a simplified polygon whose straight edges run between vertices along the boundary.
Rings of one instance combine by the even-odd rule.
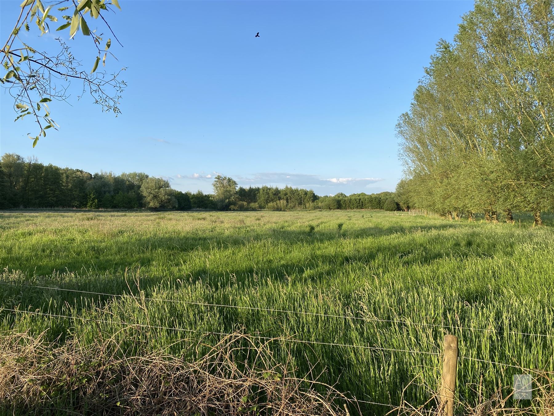
[[[95,348],[43,336],[0,337],[0,400],[10,414],[347,414],[337,404],[346,398],[334,388],[316,392],[320,383],[297,377],[268,343],[242,334],[223,338],[192,363],[163,351],[125,357],[101,334]]]

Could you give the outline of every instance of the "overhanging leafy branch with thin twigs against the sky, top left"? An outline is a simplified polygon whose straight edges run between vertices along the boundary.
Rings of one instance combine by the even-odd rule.
[[[121,70],[108,74],[105,70],[106,59],[110,52],[112,38],[119,43],[105,18],[107,11],[120,9],[117,0],[61,0],[54,4],[43,4],[41,0],[24,0],[19,16],[6,42],[0,50],[0,63],[6,70],[0,83],[7,88],[14,99],[15,121],[30,116],[37,123],[37,135],[30,136],[33,147],[48,129],[57,129],[50,111],[50,102],[69,98],[71,82],[82,84],[79,98],[87,94],[102,111],[120,113],[121,93],[126,87],[119,78]],[[89,24],[96,21],[104,27],[104,33],[91,30]],[[37,32],[40,35],[53,32],[65,32],[73,39],[78,32],[90,38],[90,67],[86,70],[81,59],[75,57],[70,47],[58,37],[57,52],[44,50],[37,44],[30,44],[21,36],[22,32]],[[88,60],[87,60],[88,62]],[[88,66],[88,65],[87,65]]]

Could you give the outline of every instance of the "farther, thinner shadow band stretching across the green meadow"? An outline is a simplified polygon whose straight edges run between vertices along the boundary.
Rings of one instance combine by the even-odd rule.
[[[269,241],[275,246],[302,245],[310,247],[324,245],[343,239],[367,239],[371,237],[384,237],[393,234],[411,234],[414,231],[430,232],[452,229],[457,224],[419,225],[419,226],[390,226],[390,227],[360,227],[355,230],[320,230],[315,232],[306,230],[269,229],[263,231],[248,230],[248,235],[183,235],[175,237],[134,237],[115,235],[111,240],[85,240],[80,245],[68,244],[65,250],[55,250],[48,242],[29,243],[25,248],[25,255],[32,253],[36,258],[34,264],[29,267],[19,263],[16,259],[8,266],[11,270],[22,270],[26,273],[34,273],[39,276],[51,275],[53,271],[78,271],[86,270],[98,274],[110,271],[122,275],[126,268],[147,267],[155,261],[160,261],[160,253],[165,256],[163,260],[187,260],[187,256],[193,256],[197,252],[209,252],[225,250],[227,248],[244,247],[260,241]],[[38,264],[37,264],[38,263]],[[203,271],[187,271],[193,275],[204,274]]]

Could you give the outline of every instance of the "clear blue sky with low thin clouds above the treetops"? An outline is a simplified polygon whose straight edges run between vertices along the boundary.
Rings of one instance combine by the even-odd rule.
[[[0,0],[2,43],[19,4]],[[470,1],[120,4],[109,19],[124,47],[112,42],[119,63],[109,59],[106,69],[128,67],[123,114],[102,114],[86,97],[52,103],[61,128],[33,149],[32,120],[13,122],[13,100],[2,89],[2,154],[91,173],[144,171],[183,191],[211,191],[214,173],[319,195],[392,191],[402,176],[397,118],[437,41],[452,40],[473,8]],[[34,45],[54,42],[35,34]],[[91,67],[88,43],[69,44]]]

